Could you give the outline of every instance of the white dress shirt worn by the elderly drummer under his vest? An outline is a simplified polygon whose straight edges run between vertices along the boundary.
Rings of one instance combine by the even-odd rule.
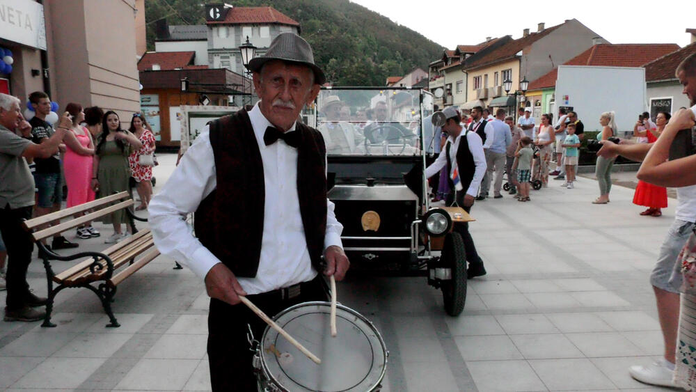
[[[312,267],[300,215],[297,196],[297,149],[285,141],[266,146],[263,141],[271,123],[258,104],[249,111],[256,141],[263,162],[264,199],[263,238],[258,273],[254,278],[238,277],[247,294],[258,294],[296,283],[309,281],[317,275]],[[296,132],[292,125],[287,132]],[[217,185],[209,128],[196,138],[181,159],[164,188],[150,202],[150,228],[157,249],[189,267],[201,279],[220,262],[193,236],[186,224],[186,214],[198,205]],[[326,200],[326,235],[324,248],[341,246],[343,226],[336,220],[333,203]],[[230,208],[237,207],[230,201]]]

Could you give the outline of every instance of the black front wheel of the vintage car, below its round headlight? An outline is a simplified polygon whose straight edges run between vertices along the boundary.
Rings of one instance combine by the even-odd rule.
[[[442,281],[441,285],[445,312],[448,315],[457,316],[464,311],[466,302],[466,251],[459,233],[450,233],[445,236],[440,261],[443,267],[452,269],[452,279]]]

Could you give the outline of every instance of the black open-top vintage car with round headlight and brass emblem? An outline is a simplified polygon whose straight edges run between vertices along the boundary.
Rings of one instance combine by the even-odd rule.
[[[466,254],[452,226],[472,219],[459,207],[430,205],[426,155],[440,142],[432,101],[419,89],[329,88],[305,120],[324,136],[329,198],[351,269],[426,275],[442,289],[445,311],[459,315]]]

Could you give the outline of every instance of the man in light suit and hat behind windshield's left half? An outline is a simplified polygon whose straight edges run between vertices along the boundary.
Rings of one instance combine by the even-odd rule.
[[[329,95],[324,100],[322,112],[326,120],[322,121],[318,130],[324,136],[327,154],[354,154],[362,148],[361,130],[341,120],[341,110],[345,107],[336,95]]]

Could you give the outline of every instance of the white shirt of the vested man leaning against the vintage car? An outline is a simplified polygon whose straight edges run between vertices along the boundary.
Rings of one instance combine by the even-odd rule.
[[[469,151],[474,158],[474,164],[476,166],[474,170],[474,177],[469,184],[468,189],[466,189],[466,194],[471,196],[476,196],[478,194],[478,189],[483,180],[483,175],[486,173],[486,156],[483,153],[483,143],[481,142],[481,136],[477,135],[476,132],[466,132],[466,130],[461,130],[457,139],[453,139],[452,136],[448,136],[445,146],[442,147],[443,153],[438,155],[435,162],[430,166],[425,168],[425,178],[431,178],[433,175],[440,173],[443,167],[447,166],[447,155],[444,153],[447,151],[447,145],[450,143],[450,162],[452,162],[452,168],[450,168],[450,178],[452,178],[452,173],[454,173],[454,168],[457,167],[457,150],[459,150],[459,141],[461,136],[466,133],[466,141],[469,143]]]

